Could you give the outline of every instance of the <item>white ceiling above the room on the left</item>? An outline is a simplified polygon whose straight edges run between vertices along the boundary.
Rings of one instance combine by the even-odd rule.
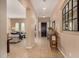
[[[8,18],[26,18],[26,9],[18,0],[7,0]]]

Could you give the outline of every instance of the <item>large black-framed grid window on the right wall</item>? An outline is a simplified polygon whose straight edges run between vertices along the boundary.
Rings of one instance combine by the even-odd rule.
[[[69,0],[62,11],[64,31],[79,31],[78,1]]]

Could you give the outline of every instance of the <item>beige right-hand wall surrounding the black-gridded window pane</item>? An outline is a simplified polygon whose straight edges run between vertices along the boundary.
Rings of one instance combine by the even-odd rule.
[[[65,57],[79,57],[79,32],[62,31],[62,7],[65,0],[60,0],[56,6],[53,19],[59,32],[58,48]]]

